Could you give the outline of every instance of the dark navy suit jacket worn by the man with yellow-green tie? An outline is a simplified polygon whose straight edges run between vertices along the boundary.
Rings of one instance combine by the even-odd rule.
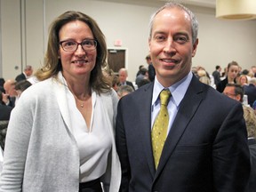
[[[146,84],[118,103],[121,191],[244,191],[250,154],[241,103],[193,76],[156,171],[150,136],[152,92],[153,83]]]

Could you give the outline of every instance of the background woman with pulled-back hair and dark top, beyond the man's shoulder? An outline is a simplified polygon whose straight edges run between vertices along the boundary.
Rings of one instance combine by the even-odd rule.
[[[236,61],[232,61],[228,63],[228,68],[227,68],[227,77],[220,81],[219,84],[217,84],[217,91],[223,92],[226,84],[236,84],[236,76],[239,72],[239,65],[237,64]]]

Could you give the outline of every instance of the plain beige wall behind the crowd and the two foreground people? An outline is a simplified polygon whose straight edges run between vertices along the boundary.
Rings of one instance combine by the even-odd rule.
[[[20,74],[26,64],[40,68],[48,26],[68,10],[84,12],[97,20],[108,47],[113,47],[116,39],[122,40],[122,47],[128,52],[126,66],[130,80],[134,80],[140,65],[147,66],[148,20],[159,5],[96,0],[0,0],[0,5],[0,76],[5,79]],[[217,20],[212,9],[190,8],[199,20],[199,45],[193,66],[202,65],[212,73],[215,65],[224,68],[231,60],[236,60],[242,68],[256,65],[256,20]]]

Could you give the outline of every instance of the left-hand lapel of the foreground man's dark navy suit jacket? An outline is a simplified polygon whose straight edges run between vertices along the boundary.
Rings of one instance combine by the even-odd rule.
[[[144,88],[142,96],[138,97],[138,103],[141,105],[140,109],[143,108],[143,110],[140,110],[139,124],[141,145],[143,147],[152,178],[154,178],[156,173],[151,145],[151,101],[153,86],[153,83],[148,84],[148,86]]]

